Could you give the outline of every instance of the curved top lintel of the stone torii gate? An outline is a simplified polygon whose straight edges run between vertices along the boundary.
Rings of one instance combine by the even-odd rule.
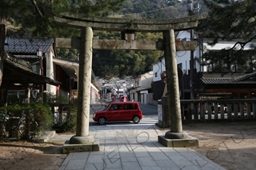
[[[207,14],[194,15],[168,20],[129,20],[112,17],[84,17],[80,14],[65,14],[62,17],[54,17],[58,25],[81,28],[92,27],[93,30],[137,32],[163,32],[174,29],[175,31],[193,29],[198,26],[200,20],[204,20]]]

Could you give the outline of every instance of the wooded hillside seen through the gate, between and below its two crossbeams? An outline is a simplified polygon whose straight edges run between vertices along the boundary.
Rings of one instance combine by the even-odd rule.
[[[117,32],[97,32],[97,36],[118,39]],[[154,40],[163,38],[160,33],[136,32],[136,39]],[[93,51],[93,72],[96,76],[110,79],[112,77],[138,76],[152,70],[152,63],[163,51]]]

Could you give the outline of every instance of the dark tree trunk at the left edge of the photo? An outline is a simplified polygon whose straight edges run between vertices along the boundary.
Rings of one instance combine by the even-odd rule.
[[[0,86],[4,71],[5,36],[6,36],[6,14],[0,11]]]

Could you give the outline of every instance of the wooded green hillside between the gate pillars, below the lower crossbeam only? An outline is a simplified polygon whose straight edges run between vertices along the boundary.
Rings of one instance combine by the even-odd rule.
[[[151,64],[160,56],[158,51],[110,51],[108,56],[93,58],[93,71],[105,79],[137,76],[152,70]]]

